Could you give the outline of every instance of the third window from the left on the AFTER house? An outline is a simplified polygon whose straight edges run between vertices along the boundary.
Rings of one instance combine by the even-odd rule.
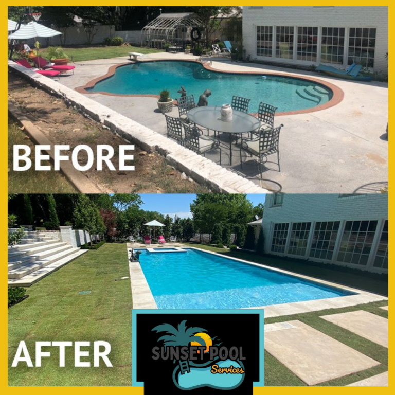
[[[340,222],[317,222],[314,228],[310,257],[331,260]]]

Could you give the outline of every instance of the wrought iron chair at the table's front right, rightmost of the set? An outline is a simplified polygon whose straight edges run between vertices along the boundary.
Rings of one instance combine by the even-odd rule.
[[[269,155],[273,155],[277,153],[277,162],[278,162],[278,171],[281,171],[280,168],[280,151],[279,151],[279,138],[280,131],[284,125],[281,124],[278,128],[275,129],[261,129],[259,136],[254,139],[243,139],[241,141],[241,149],[240,149],[240,167],[243,167],[242,160],[242,152],[247,152],[251,155],[257,157],[259,174],[262,176],[262,161],[266,158],[265,162],[267,162],[267,157]]]

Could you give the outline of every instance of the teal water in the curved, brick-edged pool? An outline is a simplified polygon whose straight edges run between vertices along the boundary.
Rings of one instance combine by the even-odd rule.
[[[265,78],[262,78],[265,77]],[[173,99],[185,86],[195,101],[210,89],[209,105],[231,103],[232,97],[251,99],[249,112],[256,113],[261,101],[278,107],[278,112],[298,111],[328,102],[333,93],[324,85],[311,81],[263,75],[225,74],[206,70],[195,62],[158,61],[118,67],[114,76],[98,82],[89,92],[122,95],[158,95],[163,89]]]

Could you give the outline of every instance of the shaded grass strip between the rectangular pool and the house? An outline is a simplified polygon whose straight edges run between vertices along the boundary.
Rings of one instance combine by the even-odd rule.
[[[207,244],[197,243],[184,243],[193,247],[207,249],[215,253],[223,254],[232,258],[244,259],[262,265],[277,267],[279,269],[287,270],[290,272],[319,278],[321,280],[331,281],[338,284],[351,286],[360,290],[366,290],[381,295],[388,295],[388,281],[379,279],[375,274],[361,273],[359,271],[349,272],[343,271],[343,268],[335,265],[315,265],[314,262],[294,260],[291,258],[281,258],[274,256],[260,256],[254,253],[230,251],[225,248],[212,247]],[[384,277],[384,276],[383,276]]]

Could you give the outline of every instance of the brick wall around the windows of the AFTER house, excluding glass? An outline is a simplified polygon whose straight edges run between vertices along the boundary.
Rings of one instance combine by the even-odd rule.
[[[388,195],[367,194],[340,197],[338,194],[291,194],[284,195],[282,205],[273,207],[274,195],[266,195],[265,210],[262,227],[265,236],[265,252],[271,252],[273,228],[275,223],[311,222],[314,229],[315,222],[340,221],[339,233],[342,232],[346,221],[378,221],[376,236],[373,241],[372,255],[368,265],[361,269],[387,272],[387,270],[370,267],[374,259],[374,252],[379,242],[384,221],[388,220]],[[290,232],[289,232],[290,234]],[[310,232],[312,234],[312,231]],[[286,255],[286,254],[278,254]],[[324,260],[310,260],[324,262]],[[335,260],[336,254],[330,263],[344,264]],[[350,265],[355,267],[355,265]]]

